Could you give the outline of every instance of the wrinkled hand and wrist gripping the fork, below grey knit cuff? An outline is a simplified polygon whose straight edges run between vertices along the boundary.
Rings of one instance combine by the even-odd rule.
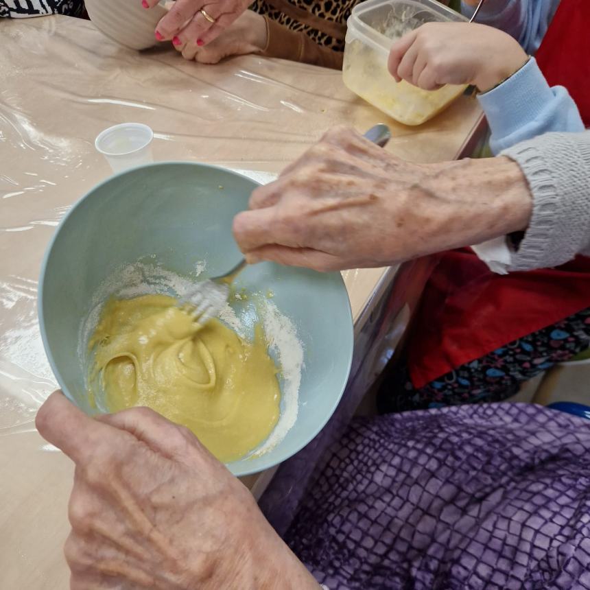
[[[384,266],[526,228],[532,199],[508,158],[405,162],[335,128],[252,193],[233,231],[250,263]]]

